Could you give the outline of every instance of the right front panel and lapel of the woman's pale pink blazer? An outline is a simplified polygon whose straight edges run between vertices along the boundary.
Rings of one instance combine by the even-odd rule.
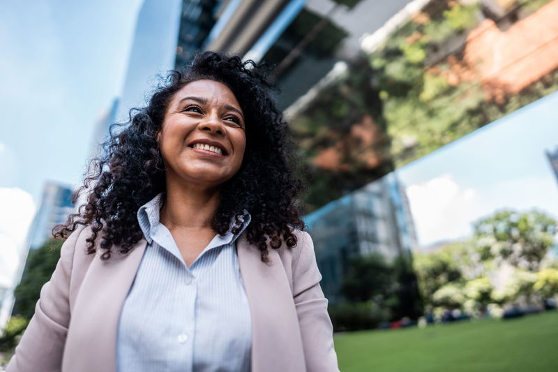
[[[237,243],[239,265],[252,318],[252,372],[306,371],[292,291],[277,250],[264,264],[245,234]]]

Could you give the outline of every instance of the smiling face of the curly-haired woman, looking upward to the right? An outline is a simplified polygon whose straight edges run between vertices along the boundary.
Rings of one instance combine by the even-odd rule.
[[[157,140],[167,183],[213,188],[233,177],[242,164],[243,112],[226,85],[196,80],[174,94]]]

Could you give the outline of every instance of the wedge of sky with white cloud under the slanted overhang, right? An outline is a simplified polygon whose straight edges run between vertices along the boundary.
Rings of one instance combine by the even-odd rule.
[[[558,219],[558,179],[545,150],[558,149],[558,92],[494,121],[397,171],[419,246],[472,233],[500,209]]]

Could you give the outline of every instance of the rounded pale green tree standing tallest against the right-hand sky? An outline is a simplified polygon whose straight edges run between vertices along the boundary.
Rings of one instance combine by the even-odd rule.
[[[474,224],[484,260],[507,261],[515,267],[537,271],[554,244],[557,222],[539,211],[504,210]]]

